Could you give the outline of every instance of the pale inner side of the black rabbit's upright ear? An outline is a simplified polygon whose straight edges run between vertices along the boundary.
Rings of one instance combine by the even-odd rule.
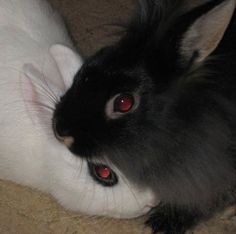
[[[235,5],[235,0],[222,1],[190,26],[180,43],[184,61],[190,61],[197,54],[195,62],[202,62],[216,49],[231,21]]]

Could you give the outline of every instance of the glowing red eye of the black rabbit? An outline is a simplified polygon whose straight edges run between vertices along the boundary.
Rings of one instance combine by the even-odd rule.
[[[114,102],[114,111],[127,113],[129,112],[134,105],[134,98],[129,94],[121,94],[119,95]]]

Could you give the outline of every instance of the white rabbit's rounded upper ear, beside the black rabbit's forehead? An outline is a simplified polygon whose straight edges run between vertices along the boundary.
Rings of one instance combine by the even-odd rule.
[[[82,66],[82,58],[69,47],[60,44],[51,46],[50,53],[58,66],[66,87],[69,88],[75,74]]]

